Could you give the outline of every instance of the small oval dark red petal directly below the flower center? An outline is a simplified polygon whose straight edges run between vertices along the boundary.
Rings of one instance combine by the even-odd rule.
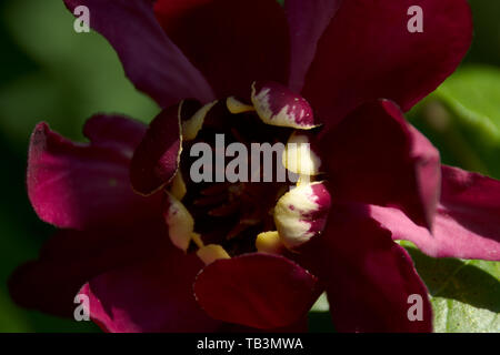
[[[194,283],[198,303],[210,316],[263,329],[298,322],[320,292],[316,277],[299,265],[261,253],[218,260]]]

